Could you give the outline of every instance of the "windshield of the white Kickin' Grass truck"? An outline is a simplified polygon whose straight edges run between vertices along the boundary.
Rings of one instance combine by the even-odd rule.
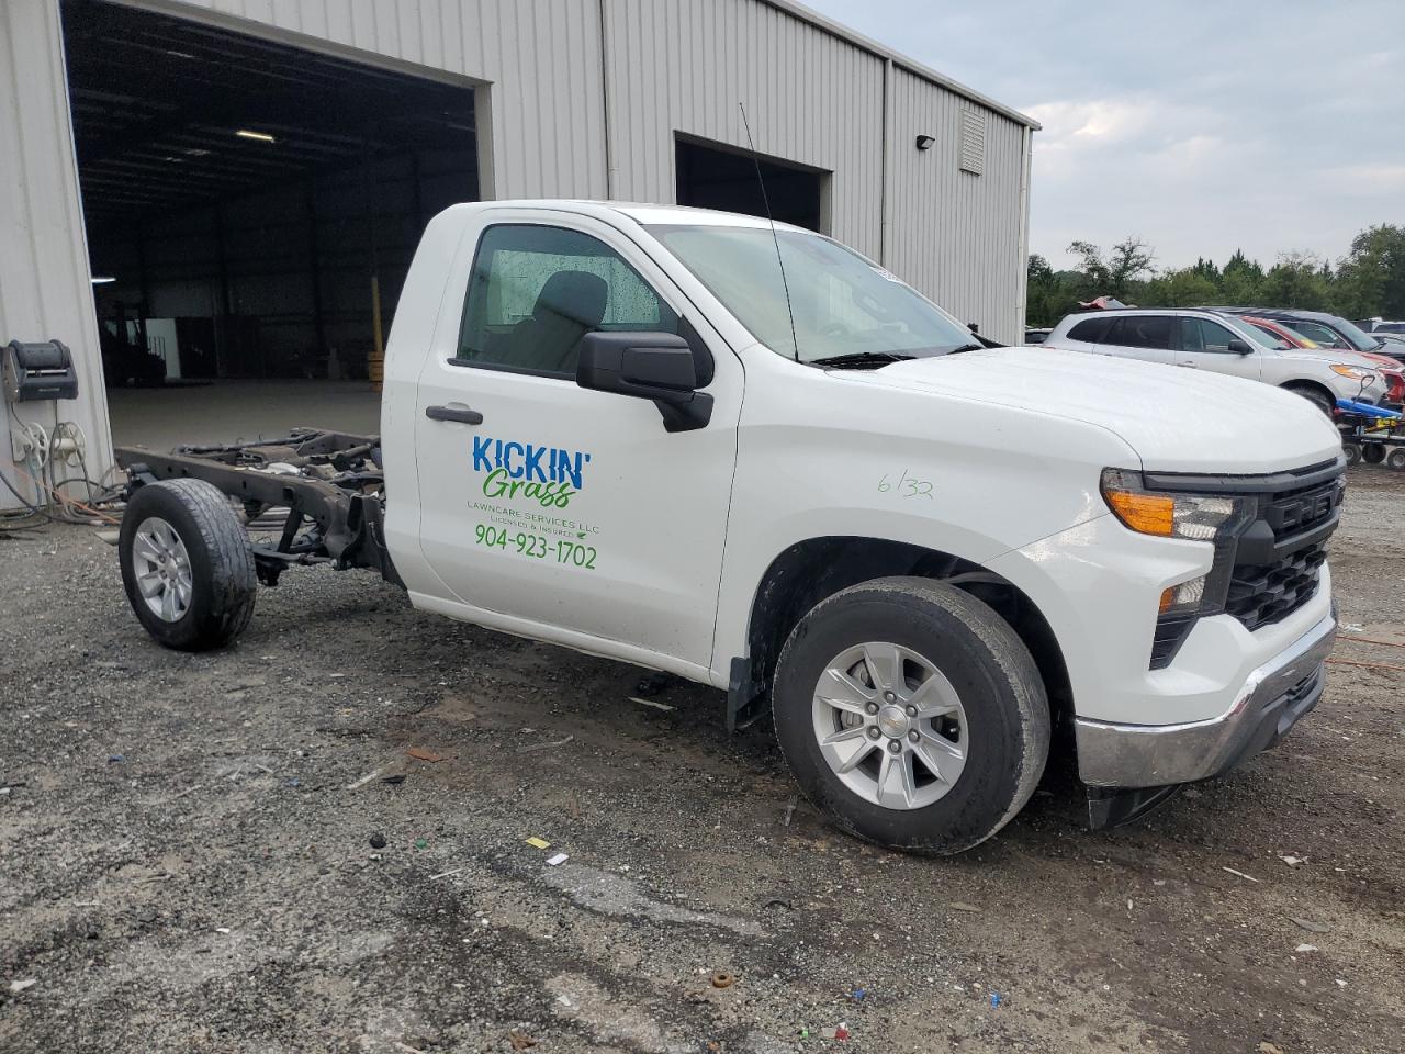
[[[787,358],[913,358],[979,347],[965,326],[912,287],[828,238],[776,232],[785,261],[783,285],[769,228],[651,225],[648,230],[757,340]]]

